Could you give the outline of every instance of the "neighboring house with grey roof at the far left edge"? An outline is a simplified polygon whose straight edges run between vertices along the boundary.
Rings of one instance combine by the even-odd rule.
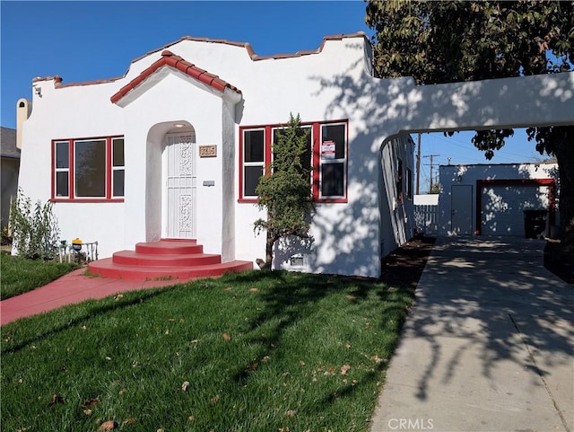
[[[8,225],[10,203],[18,192],[20,149],[16,147],[16,129],[0,128],[0,159],[2,160],[2,228]]]

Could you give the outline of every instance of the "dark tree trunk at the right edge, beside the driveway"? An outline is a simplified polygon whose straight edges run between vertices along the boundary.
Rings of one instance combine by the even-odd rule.
[[[574,127],[567,127],[574,131]],[[555,143],[554,155],[560,173],[561,252],[574,253],[574,134]]]

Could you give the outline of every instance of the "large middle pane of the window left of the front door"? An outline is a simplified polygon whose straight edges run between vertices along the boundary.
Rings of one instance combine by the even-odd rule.
[[[75,143],[76,197],[106,196],[106,141]]]

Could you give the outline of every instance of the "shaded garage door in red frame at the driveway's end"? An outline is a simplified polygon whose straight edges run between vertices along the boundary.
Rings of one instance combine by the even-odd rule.
[[[549,192],[549,186],[484,185],[482,234],[524,237],[524,211],[548,210]]]

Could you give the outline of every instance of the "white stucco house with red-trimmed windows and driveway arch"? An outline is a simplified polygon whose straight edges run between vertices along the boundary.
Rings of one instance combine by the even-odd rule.
[[[270,57],[185,37],[121,77],[34,79],[32,100],[18,102],[19,185],[53,201],[62,237],[97,241],[100,258],[195,239],[204,253],[254,267],[265,253],[253,231],[265,216],[257,180],[274,137],[300,114],[314,242],[278,246],[274,268],[378,277],[381,257],[413,235],[409,133],[569,124],[573,76],[416,86],[376,77],[361,32]]]

